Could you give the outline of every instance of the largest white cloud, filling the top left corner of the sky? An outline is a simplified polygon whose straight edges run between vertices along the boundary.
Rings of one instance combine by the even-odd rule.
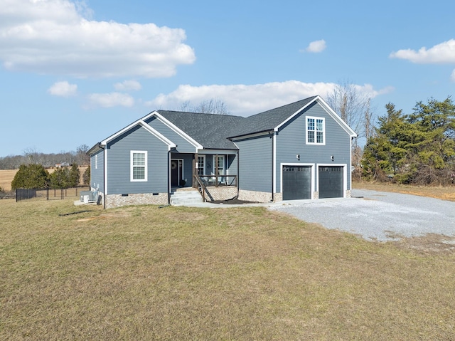
[[[91,21],[70,0],[0,0],[7,70],[87,77],[169,77],[196,57],[181,28]]]

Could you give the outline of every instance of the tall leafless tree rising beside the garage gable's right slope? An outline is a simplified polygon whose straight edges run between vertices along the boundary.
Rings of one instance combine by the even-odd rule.
[[[358,139],[367,140],[372,136],[374,110],[371,96],[358,90],[357,85],[349,81],[336,85],[333,93],[328,95],[327,103],[357,132]]]

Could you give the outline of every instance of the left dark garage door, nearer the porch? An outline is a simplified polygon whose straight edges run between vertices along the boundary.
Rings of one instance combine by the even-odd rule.
[[[311,167],[283,166],[283,200],[311,199]]]

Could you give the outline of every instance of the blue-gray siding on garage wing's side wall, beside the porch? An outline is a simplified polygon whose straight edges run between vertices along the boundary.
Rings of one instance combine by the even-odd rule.
[[[272,193],[272,138],[234,141],[239,147],[239,189]]]

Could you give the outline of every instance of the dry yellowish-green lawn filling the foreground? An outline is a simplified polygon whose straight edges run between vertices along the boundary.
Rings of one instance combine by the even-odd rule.
[[[0,201],[0,340],[454,340],[454,252],[260,207]]]

